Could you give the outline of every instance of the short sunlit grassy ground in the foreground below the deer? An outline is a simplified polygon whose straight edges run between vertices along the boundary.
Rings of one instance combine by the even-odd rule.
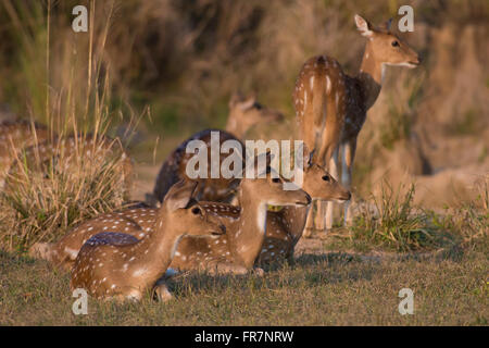
[[[325,251],[301,240],[296,263],[263,278],[179,276],[175,299],[116,304],[89,298],[74,315],[68,274],[43,261],[0,253],[1,325],[487,325],[488,243],[423,254]],[[414,291],[401,315],[398,293]]]

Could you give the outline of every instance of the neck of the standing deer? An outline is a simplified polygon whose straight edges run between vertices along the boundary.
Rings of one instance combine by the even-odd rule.
[[[362,65],[360,66],[360,73],[355,77],[360,83],[365,110],[372,108],[380,94],[384,69],[384,63],[376,59],[374,50],[369,42],[367,42],[365,52],[363,53]]]

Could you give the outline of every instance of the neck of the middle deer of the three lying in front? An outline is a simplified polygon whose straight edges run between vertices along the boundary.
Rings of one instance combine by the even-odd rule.
[[[241,212],[235,222],[234,234],[229,243],[235,256],[246,268],[251,268],[262,250],[266,229],[267,204],[252,197],[247,189],[241,189]]]

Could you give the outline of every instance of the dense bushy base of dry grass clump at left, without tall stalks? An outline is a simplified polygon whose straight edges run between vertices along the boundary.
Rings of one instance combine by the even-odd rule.
[[[29,156],[45,159],[42,163],[27,161],[25,152],[20,153],[17,171],[0,194],[2,248],[23,251],[36,241],[55,240],[75,224],[123,207],[123,152],[114,151],[115,145],[106,146],[106,140],[84,144],[74,137],[58,144],[64,140],[78,142],[74,153],[63,151],[60,145],[61,149],[46,159],[39,147],[30,149]]]

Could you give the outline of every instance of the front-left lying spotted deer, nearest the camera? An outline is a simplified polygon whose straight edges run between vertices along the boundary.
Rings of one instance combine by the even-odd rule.
[[[183,236],[225,233],[220,219],[191,199],[196,186],[186,182],[172,186],[153,232],[140,240],[122,233],[123,228],[88,239],[73,265],[71,288],[84,288],[97,298],[140,300],[166,271]],[[170,294],[159,295],[167,299]]]

